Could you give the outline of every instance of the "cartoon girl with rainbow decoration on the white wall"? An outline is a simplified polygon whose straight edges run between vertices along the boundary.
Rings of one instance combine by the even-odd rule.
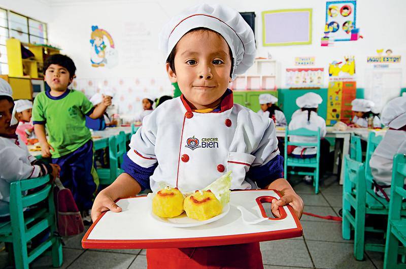
[[[108,31],[93,25],[90,44],[92,46],[90,62],[94,68],[105,65],[108,68],[113,68],[118,64],[118,53],[114,47],[113,38]]]

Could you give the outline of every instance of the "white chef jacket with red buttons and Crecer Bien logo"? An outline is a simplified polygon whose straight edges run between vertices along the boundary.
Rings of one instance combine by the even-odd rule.
[[[191,111],[183,96],[167,100],[144,118],[129,146],[133,163],[148,168],[158,162],[150,177],[153,191],[165,182],[191,192],[228,171],[231,189],[251,189],[246,179],[250,166],[279,155],[275,125],[233,104],[232,93],[223,99],[221,111],[211,113]]]

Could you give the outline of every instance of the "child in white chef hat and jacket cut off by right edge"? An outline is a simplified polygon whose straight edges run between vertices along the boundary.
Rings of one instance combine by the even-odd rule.
[[[406,96],[396,97],[382,110],[382,122],[389,126],[384,138],[369,160],[376,192],[389,200],[393,156],[406,154]],[[406,180],[405,180],[406,184]]]

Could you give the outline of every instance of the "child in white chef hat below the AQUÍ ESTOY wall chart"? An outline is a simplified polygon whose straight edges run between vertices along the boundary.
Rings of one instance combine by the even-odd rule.
[[[378,114],[371,111],[375,106],[374,102],[367,99],[354,99],[351,102],[352,111],[354,111],[354,118],[352,123],[354,127],[363,128],[381,128],[381,120]]]

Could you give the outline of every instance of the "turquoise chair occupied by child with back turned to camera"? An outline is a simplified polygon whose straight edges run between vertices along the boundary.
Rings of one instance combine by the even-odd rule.
[[[288,137],[290,136],[303,136],[303,137],[315,137],[317,138],[316,143],[301,143],[301,142],[291,142],[288,141]],[[302,147],[316,147],[317,153],[316,157],[314,158],[295,158],[292,156],[288,156],[288,146],[302,146]],[[309,175],[313,176],[313,186],[315,187],[316,194],[319,193],[319,165],[320,165],[320,128],[317,131],[311,131],[306,128],[299,128],[296,130],[289,130],[286,128],[285,131],[285,175]],[[314,168],[314,172],[295,172],[290,171],[288,172],[288,166],[292,167],[311,167]]]

